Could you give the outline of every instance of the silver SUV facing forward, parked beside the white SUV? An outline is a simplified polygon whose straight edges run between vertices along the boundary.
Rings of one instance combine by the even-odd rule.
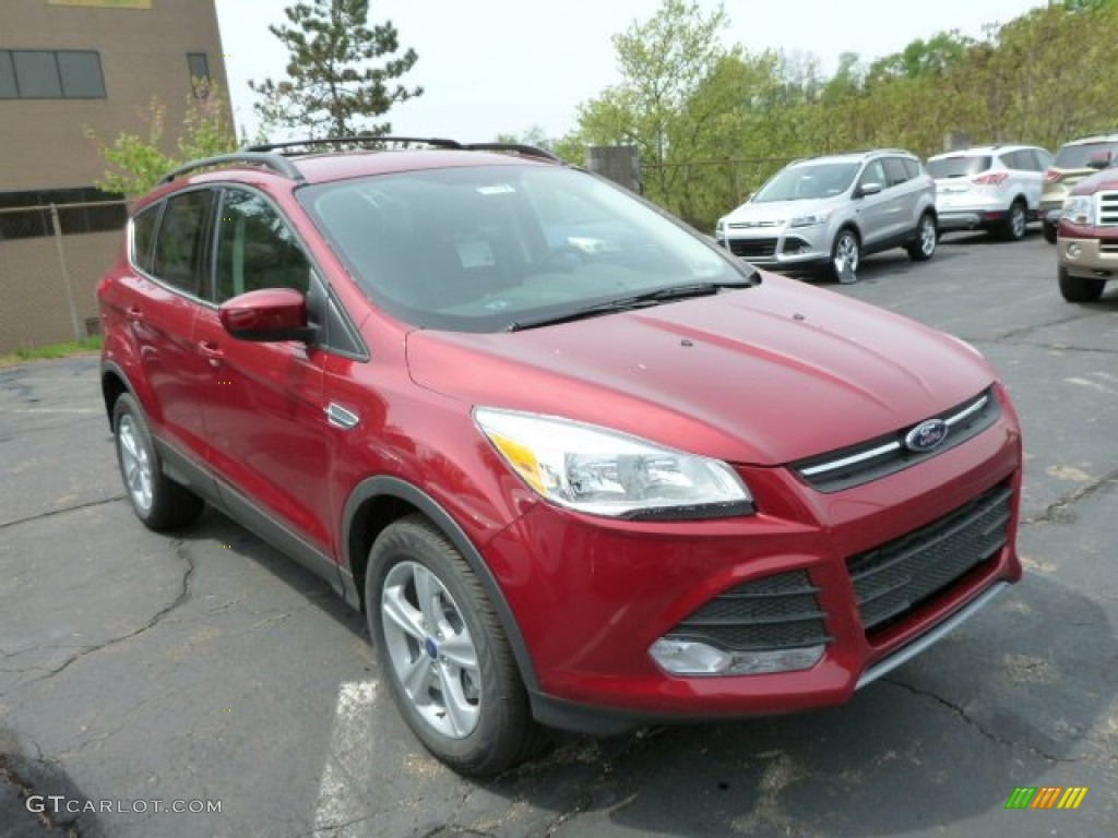
[[[714,235],[759,267],[841,278],[891,247],[930,259],[936,227],[935,182],[913,154],[890,149],[789,163]]]

